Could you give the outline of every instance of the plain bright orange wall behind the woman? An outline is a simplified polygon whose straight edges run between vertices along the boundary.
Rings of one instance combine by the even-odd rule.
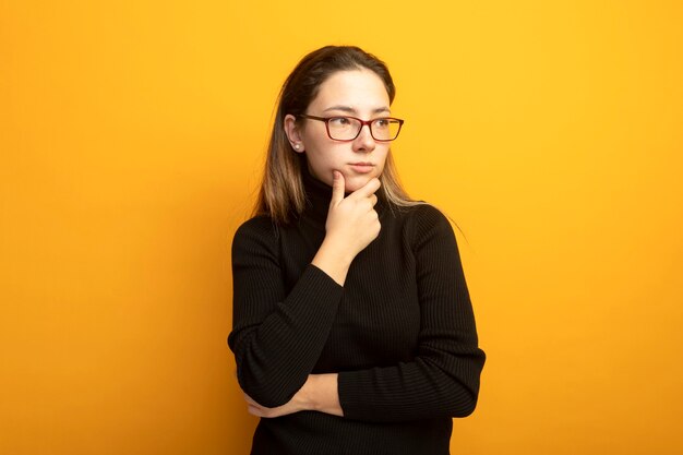
[[[406,187],[465,234],[453,453],[682,453],[681,4],[0,2],[0,453],[248,453],[229,242],[329,43],[387,61]]]

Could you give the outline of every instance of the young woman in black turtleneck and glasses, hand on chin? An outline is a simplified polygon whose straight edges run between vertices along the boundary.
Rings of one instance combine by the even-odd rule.
[[[356,47],[285,82],[254,217],[232,243],[228,343],[252,454],[448,454],[484,354],[453,229],[398,183],[395,87]]]

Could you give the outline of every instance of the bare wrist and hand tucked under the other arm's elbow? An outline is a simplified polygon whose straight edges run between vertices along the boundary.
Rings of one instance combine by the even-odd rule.
[[[344,416],[337,392],[337,374],[311,374],[295,396],[283,406],[266,408],[244,394],[249,414],[272,419],[302,410],[316,410],[333,416]]]

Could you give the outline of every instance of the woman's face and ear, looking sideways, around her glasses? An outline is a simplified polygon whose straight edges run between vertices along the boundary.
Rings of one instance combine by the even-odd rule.
[[[339,71],[321,84],[305,113],[362,120],[387,117],[388,94],[380,76],[370,70]],[[305,119],[296,124],[295,118],[287,116],[285,129],[295,151],[305,154],[311,175],[328,185],[334,170],[344,175],[347,192],[358,190],[384,170],[390,143],[376,142],[368,125],[349,142],[329,139],[325,122],[317,120]]]

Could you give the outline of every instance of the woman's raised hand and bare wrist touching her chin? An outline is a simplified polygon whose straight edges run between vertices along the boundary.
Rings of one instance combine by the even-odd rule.
[[[334,171],[325,239],[312,263],[339,285],[344,285],[354,258],[380,235],[380,218],[374,211],[374,193],[380,185],[374,178],[344,197],[344,176]]]

